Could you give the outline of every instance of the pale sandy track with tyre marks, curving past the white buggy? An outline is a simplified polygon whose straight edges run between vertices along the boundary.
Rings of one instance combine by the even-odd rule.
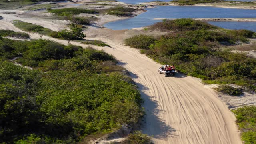
[[[0,20],[0,28],[20,31],[10,22]],[[31,38],[40,38],[31,34]],[[68,44],[66,40],[48,38]],[[160,64],[134,48],[107,38],[98,39],[112,48],[104,49],[114,55],[136,82],[144,98],[146,111],[142,131],[154,135],[157,144],[241,144],[235,117],[221,102],[216,93],[198,80],[177,74],[164,77],[158,74]],[[78,42],[72,44],[86,46]]]

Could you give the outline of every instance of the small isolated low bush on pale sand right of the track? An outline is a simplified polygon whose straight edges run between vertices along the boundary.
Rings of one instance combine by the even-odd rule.
[[[234,88],[232,86],[222,85],[219,88],[216,88],[218,92],[222,92],[224,94],[228,94],[231,96],[240,96],[243,94],[242,90],[239,88]]]

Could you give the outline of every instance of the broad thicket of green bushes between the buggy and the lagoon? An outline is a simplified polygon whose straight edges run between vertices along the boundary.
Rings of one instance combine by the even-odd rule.
[[[165,20],[151,28],[169,34],[141,50],[150,58],[162,64],[174,64],[180,72],[202,78],[206,83],[237,84],[256,92],[256,60],[245,54],[219,50],[221,44],[248,42],[254,32],[224,30],[191,19]],[[147,42],[138,40],[134,38],[126,44]]]

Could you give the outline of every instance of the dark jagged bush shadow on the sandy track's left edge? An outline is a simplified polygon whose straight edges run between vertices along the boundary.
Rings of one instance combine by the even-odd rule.
[[[168,137],[174,137],[177,135],[172,134],[176,130],[166,122],[160,120],[159,116],[165,112],[165,110],[159,109],[159,105],[154,97],[150,98],[145,92],[149,90],[146,86],[136,83],[138,90],[140,90],[141,97],[144,100],[142,107],[145,108],[146,115],[143,118],[142,132],[153,136],[157,139],[165,139]]]

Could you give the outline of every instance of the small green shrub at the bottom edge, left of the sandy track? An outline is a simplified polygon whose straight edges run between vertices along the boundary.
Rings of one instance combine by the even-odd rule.
[[[151,138],[140,131],[134,131],[122,144],[151,144]]]

